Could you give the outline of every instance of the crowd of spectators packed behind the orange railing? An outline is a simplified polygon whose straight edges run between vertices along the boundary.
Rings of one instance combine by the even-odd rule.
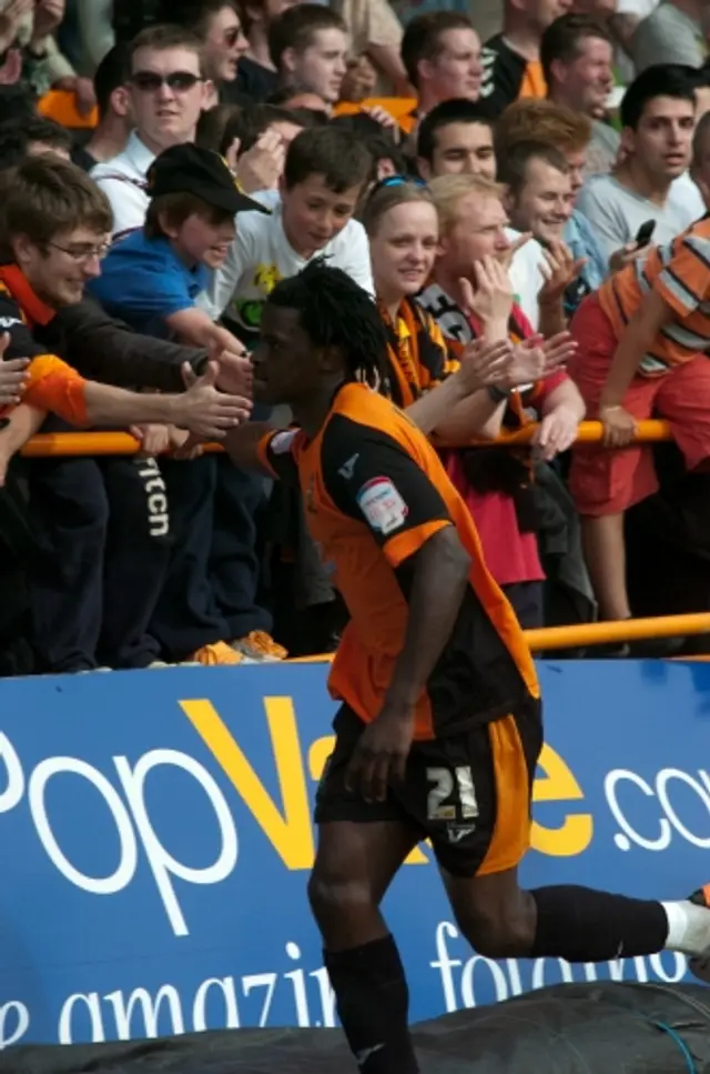
[[[334,649],[307,504],[203,450],[268,416],[261,310],[315,258],[524,626],[707,610],[706,9],[505,0],[481,46],[475,4],[0,0],[0,674]],[[77,428],[139,453],[20,454]]]

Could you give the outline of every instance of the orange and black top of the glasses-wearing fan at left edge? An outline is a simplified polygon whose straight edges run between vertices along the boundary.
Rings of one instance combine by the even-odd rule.
[[[55,354],[48,354],[32,337],[36,324],[49,324],[54,317],[55,310],[42,302],[17,265],[0,265],[0,333],[10,337],[4,360],[31,359],[22,402],[51,411],[72,425],[84,425],[85,380]],[[10,410],[6,408],[2,414]]]

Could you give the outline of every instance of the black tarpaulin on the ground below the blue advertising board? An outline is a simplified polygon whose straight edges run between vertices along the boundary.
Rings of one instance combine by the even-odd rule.
[[[710,1074],[710,991],[559,985],[414,1027],[422,1074]],[[0,1074],[348,1074],[338,1030],[231,1030],[27,1046]]]

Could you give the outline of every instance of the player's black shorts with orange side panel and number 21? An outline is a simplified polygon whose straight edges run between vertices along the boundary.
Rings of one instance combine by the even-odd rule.
[[[315,801],[316,824],[399,821],[428,839],[439,865],[454,876],[500,873],[529,846],[530,795],[542,747],[539,701],[484,726],[415,742],[404,783],[385,802],[346,790],[345,773],[366,724],[347,705],[336,713],[335,749]]]

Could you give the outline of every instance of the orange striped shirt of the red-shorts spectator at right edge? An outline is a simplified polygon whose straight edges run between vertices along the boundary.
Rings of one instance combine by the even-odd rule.
[[[602,283],[599,303],[617,340],[649,291],[673,312],[639,367],[643,377],[659,377],[710,350],[710,213]]]

